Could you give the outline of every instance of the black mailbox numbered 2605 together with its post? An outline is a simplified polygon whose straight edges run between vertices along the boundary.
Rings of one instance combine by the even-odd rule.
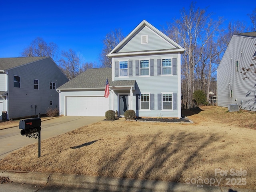
[[[41,119],[23,119],[20,120],[20,134],[29,138],[38,138],[38,158],[41,156]]]

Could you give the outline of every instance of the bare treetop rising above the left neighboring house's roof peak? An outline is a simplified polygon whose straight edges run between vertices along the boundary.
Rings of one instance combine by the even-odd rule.
[[[40,37],[35,38],[30,46],[24,48],[21,56],[24,57],[51,57],[55,62],[58,61],[58,46],[54,42],[48,44]]]

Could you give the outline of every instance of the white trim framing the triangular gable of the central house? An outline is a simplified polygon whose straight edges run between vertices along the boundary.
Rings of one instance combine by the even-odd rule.
[[[185,49],[182,48],[179,44],[174,42],[172,39],[170,39],[168,36],[160,32],[157,28],[152,26],[150,23],[148,23],[146,20],[143,20],[126,38],[124,38],[109,54],[107,54],[108,57],[112,56],[124,56],[124,55],[132,55],[134,52],[119,52],[120,49],[122,49],[140,30],[143,28],[148,28],[152,33],[156,34],[159,38],[161,38],[164,42],[169,44],[170,48],[164,49],[164,50],[149,50],[149,51],[137,51],[136,54],[152,54],[152,53],[169,53],[169,52],[184,52]]]

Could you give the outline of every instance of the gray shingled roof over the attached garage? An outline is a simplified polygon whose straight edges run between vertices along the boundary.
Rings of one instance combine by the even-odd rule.
[[[91,68],[66,82],[57,90],[105,89],[106,79],[112,81],[112,68]]]

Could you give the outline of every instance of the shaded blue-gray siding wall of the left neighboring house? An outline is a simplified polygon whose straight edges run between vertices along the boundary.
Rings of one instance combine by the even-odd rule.
[[[20,76],[20,88],[14,88],[14,75]],[[34,89],[34,79],[39,80],[38,90]],[[9,118],[16,118],[45,114],[48,107],[59,108],[59,94],[50,89],[49,82],[59,87],[68,79],[52,59],[46,58],[8,70],[8,81]]]

